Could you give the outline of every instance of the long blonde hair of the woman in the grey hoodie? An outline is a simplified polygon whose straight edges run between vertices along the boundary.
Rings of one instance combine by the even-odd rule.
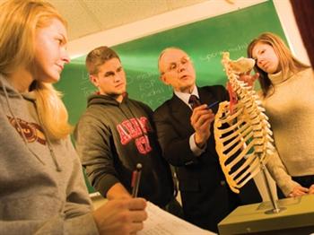
[[[0,5],[0,73],[9,77],[20,66],[30,67],[35,57],[36,30],[65,19],[51,4],[41,0],[9,0]],[[22,79],[22,78],[21,78]],[[65,138],[72,127],[61,95],[50,83],[35,81],[39,119],[51,140]]]

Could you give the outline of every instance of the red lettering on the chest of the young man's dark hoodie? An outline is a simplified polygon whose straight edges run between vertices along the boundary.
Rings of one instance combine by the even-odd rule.
[[[122,145],[135,140],[137,151],[146,154],[152,151],[147,133],[151,131],[146,117],[130,118],[117,125]]]

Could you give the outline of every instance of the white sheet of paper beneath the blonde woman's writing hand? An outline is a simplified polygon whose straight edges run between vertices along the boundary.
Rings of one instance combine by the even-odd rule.
[[[210,235],[216,234],[205,231],[192,223],[181,220],[179,217],[161,210],[157,205],[147,202],[147,220],[144,222],[144,230],[138,231],[138,235]]]

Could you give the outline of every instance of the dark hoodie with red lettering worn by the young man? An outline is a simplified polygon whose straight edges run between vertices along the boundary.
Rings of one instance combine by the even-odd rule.
[[[105,95],[89,98],[74,137],[87,176],[101,195],[118,182],[131,192],[132,171],[141,163],[138,196],[160,206],[170,202],[170,166],[161,157],[152,118],[152,109],[127,97],[121,103]]]

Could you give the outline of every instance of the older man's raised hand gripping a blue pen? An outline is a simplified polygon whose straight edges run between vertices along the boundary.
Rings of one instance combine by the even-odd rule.
[[[214,121],[214,113],[212,109],[207,109],[206,104],[203,104],[193,109],[190,121],[196,131],[196,145],[202,148],[211,135],[209,127]]]

